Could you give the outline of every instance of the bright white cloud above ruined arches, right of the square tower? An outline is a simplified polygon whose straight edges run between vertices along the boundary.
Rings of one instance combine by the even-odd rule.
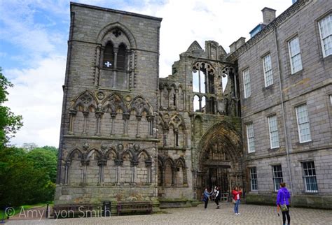
[[[261,10],[265,6],[276,9],[279,15],[291,6],[291,0],[169,0],[162,6],[147,3],[145,8],[126,10],[162,17],[160,77],[165,77],[193,41],[203,49],[205,41],[217,41],[228,52],[228,46],[238,38],[249,40],[249,31],[263,22]]]

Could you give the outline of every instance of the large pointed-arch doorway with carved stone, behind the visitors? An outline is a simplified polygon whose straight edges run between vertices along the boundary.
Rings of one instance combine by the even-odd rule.
[[[233,186],[242,186],[240,129],[225,121],[214,124],[202,136],[195,152],[195,198],[200,199],[206,187],[219,186],[226,196]]]

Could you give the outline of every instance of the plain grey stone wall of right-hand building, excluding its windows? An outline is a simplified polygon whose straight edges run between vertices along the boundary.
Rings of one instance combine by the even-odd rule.
[[[318,21],[328,15],[327,1],[298,1],[234,52],[241,94],[247,203],[274,203],[273,165],[282,166],[292,204],[331,208],[331,55],[323,57]],[[331,13],[331,11],[330,11]],[[288,41],[298,36],[303,69],[291,74]],[[263,57],[270,55],[273,84],[265,87]],[[254,56],[254,57],[253,57]],[[251,96],[244,98],[244,70]],[[306,104],[311,140],[300,143],[296,107]],[[271,149],[268,117],[277,116],[279,147]],[[248,152],[246,125],[254,126],[255,152]],[[303,162],[313,161],[318,190],[305,191]],[[249,168],[256,167],[258,190],[251,191]]]

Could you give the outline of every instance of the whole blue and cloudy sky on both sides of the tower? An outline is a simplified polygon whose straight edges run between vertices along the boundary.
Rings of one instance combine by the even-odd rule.
[[[226,52],[263,22],[261,10],[291,6],[291,0],[79,0],[93,6],[162,17],[160,77],[172,73],[193,41],[217,41]],[[8,102],[23,126],[11,144],[59,145],[62,85],[69,37],[69,1],[0,0],[0,66],[14,87]]]

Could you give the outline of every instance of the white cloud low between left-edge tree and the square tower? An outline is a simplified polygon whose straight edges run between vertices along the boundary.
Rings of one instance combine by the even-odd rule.
[[[7,106],[23,116],[23,126],[11,144],[58,145],[65,57],[43,59],[36,68],[4,70],[13,78]]]

